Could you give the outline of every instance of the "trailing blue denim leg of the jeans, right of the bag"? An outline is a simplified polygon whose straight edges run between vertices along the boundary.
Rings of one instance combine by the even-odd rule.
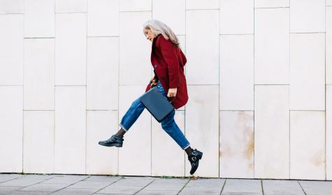
[[[160,81],[157,83],[158,90],[164,95],[167,96],[164,88],[161,86]],[[163,130],[174,139],[178,145],[185,150],[190,146],[189,141],[186,139],[185,134],[182,133],[178,125],[175,123],[174,120],[175,110],[171,111],[164,120],[161,121],[161,127]]]

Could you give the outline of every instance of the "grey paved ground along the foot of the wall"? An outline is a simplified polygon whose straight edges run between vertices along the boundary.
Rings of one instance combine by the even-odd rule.
[[[0,173],[0,194],[331,195],[332,181]]]

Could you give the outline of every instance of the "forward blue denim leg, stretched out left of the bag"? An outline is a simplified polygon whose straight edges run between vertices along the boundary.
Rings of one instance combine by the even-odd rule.
[[[144,105],[140,102],[140,98],[137,98],[135,101],[131,103],[131,106],[127,110],[126,114],[121,119],[120,127],[124,131],[128,131],[131,125],[135,123],[137,118],[142,114],[143,110],[145,109]]]

